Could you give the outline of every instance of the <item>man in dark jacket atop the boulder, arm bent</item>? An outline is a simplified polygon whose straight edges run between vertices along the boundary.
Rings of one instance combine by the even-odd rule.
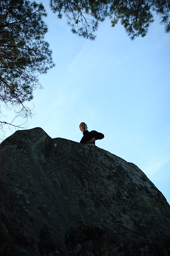
[[[83,137],[81,138],[80,143],[95,145],[95,141],[97,139],[104,138],[103,133],[96,132],[95,130],[92,130],[91,132],[89,132],[87,130],[87,125],[84,122],[80,123],[80,130],[81,132],[83,132]]]

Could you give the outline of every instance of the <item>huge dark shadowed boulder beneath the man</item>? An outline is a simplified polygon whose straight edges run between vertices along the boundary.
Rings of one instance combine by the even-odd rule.
[[[170,206],[132,163],[41,128],[0,145],[1,256],[169,256]]]

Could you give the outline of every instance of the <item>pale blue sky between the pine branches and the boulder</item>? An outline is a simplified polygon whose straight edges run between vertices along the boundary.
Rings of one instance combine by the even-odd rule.
[[[131,41],[123,26],[112,28],[106,20],[89,41],[72,34],[48,1],[43,4],[56,66],[40,75],[44,89],[26,103],[36,112],[28,129],[79,142],[85,122],[105,135],[98,147],[136,164],[170,204],[170,34],[155,17],[147,36]]]

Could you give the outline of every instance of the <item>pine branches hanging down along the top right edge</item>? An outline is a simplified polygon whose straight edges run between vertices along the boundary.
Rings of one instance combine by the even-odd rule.
[[[67,17],[73,33],[95,39],[98,22],[106,17],[112,27],[121,21],[131,39],[144,37],[153,15],[160,16],[165,32],[170,31],[170,0],[50,0],[53,12]]]

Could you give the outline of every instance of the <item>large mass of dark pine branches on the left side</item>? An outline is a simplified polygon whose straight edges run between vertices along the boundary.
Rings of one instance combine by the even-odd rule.
[[[0,102],[7,109],[19,107],[16,116],[32,114],[23,102],[32,100],[33,90],[41,87],[38,74],[54,66],[52,51],[44,41],[47,26],[43,16],[42,4],[0,1]],[[5,123],[1,120],[0,128]]]

